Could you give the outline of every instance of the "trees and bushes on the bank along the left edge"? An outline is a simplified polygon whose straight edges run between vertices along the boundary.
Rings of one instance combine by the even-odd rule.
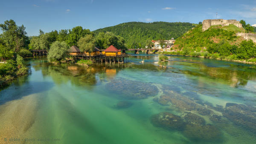
[[[0,87],[9,84],[19,75],[26,75],[28,67],[22,56],[30,55],[26,51],[29,38],[26,36],[25,27],[17,26],[15,21],[6,20],[0,24]],[[22,56],[20,56],[22,55]]]

